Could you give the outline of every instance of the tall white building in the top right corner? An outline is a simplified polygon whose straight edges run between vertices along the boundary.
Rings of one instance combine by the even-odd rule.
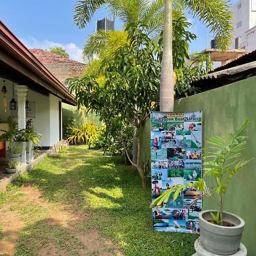
[[[256,0],[240,0],[232,7],[234,39],[232,49],[256,49]]]

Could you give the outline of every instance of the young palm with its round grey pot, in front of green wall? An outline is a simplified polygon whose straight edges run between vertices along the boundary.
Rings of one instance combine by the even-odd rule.
[[[171,189],[163,192],[152,204],[160,205],[167,202],[171,195],[174,195],[174,201],[177,199],[180,191],[185,188],[196,188],[201,191],[201,196],[209,197],[214,200],[218,209],[204,210],[199,213],[200,238],[201,243],[207,251],[218,255],[232,255],[237,253],[242,238],[243,226],[245,221],[233,213],[224,211],[225,193],[230,180],[241,170],[251,159],[245,160],[242,156],[242,150],[246,144],[246,127],[249,120],[236,130],[236,133],[230,134],[226,138],[213,137],[207,143],[210,145],[210,153],[204,153],[204,176],[212,177],[215,186],[207,186],[204,179],[199,179],[194,184],[175,185]]]

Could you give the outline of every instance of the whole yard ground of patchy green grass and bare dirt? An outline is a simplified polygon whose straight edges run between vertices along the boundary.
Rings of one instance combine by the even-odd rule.
[[[44,159],[8,190],[0,193],[0,243],[16,240],[14,255],[194,253],[197,235],[152,231],[151,191],[142,191],[139,175],[119,156],[70,147],[60,158]],[[21,223],[17,238],[5,235],[8,216]]]

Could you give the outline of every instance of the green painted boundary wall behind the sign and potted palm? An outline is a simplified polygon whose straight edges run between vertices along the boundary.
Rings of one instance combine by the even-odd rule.
[[[207,82],[207,81],[205,81]],[[247,159],[256,158],[256,77],[222,86],[175,101],[175,112],[203,110],[203,146],[210,137],[225,137],[246,119],[251,123],[244,151]],[[146,131],[147,129],[147,131]],[[149,124],[143,127],[143,159],[150,156]],[[210,181],[207,180],[210,185]],[[242,242],[249,256],[256,255],[256,160],[238,172],[230,183],[224,208],[245,220]],[[212,200],[204,199],[204,209],[213,209]]]

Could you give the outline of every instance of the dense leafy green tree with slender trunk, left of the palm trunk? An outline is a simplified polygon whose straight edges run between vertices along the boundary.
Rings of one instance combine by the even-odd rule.
[[[127,27],[127,43],[118,48],[111,59],[102,62],[104,85],[100,85],[95,76],[67,81],[69,90],[75,92],[78,104],[100,114],[107,130],[118,134],[123,146],[123,134],[132,125],[138,131],[159,100],[161,49],[143,31],[142,25],[131,24]],[[131,163],[138,168],[142,187],[146,188],[139,137],[137,163]]]

